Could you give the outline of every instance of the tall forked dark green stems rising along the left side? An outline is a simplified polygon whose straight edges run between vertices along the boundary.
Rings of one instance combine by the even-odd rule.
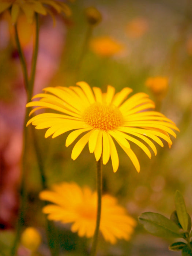
[[[31,74],[30,79],[27,73],[27,64],[25,60],[25,56],[22,51],[22,47],[20,45],[19,41],[19,35],[18,30],[15,25],[15,39],[16,39],[16,45],[18,48],[20,63],[23,70],[23,77],[24,77],[24,83],[26,87],[27,92],[27,102],[29,102],[33,95],[33,87],[34,87],[34,80],[35,80],[35,71],[36,71],[36,65],[37,65],[37,56],[38,56],[38,44],[39,44],[39,19],[38,14],[35,14],[35,23],[36,23],[36,33],[35,33],[35,43],[34,43],[34,49],[33,49],[33,57],[32,57],[32,63],[31,63]],[[26,109],[25,114],[25,121],[24,121],[24,129],[23,129],[23,154],[22,154],[22,173],[21,173],[21,185],[20,185],[20,208],[19,208],[19,214],[18,214],[18,223],[16,225],[16,234],[15,239],[11,248],[11,256],[15,256],[17,253],[17,248],[19,244],[20,234],[22,231],[22,227],[25,225],[25,212],[26,212],[26,203],[27,203],[27,190],[26,190],[26,167],[27,167],[27,150],[29,147],[29,143],[27,143],[29,139],[29,128],[26,127],[26,123],[29,119],[29,113],[30,109]],[[34,132],[34,129],[32,129],[33,132],[33,140],[34,140],[34,147],[35,152],[37,155],[37,162],[39,166],[39,171],[41,174],[41,183],[42,183],[42,189],[46,188],[46,178],[45,178],[45,172],[44,172],[44,165],[43,160],[41,157],[41,150],[39,148],[37,135]],[[47,221],[47,233],[48,233],[48,240],[49,240],[49,246],[50,251],[52,253],[52,256],[59,255],[59,244],[57,240],[57,234],[55,227],[52,222]]]

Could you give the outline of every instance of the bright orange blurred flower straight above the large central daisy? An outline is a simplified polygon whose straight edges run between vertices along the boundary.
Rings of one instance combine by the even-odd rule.
[[[111,37],[106,36],[93,38],[90,41],[90,48],[94,53],[100,56],[110,57],[120,53],[124,46]]]

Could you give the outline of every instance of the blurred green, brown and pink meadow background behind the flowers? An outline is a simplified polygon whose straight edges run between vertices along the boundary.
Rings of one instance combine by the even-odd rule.
[[[48,86],[73,86],[86,81],[91,87],[116,92],[131,87],[133,93],[145,92],[157,102],[157,110],[173,120],[180,133],[168,145],[157,146],[157,156],[148,159],[140,148],[131,144],[138,156],[141,170],[137,173],[121,148],[117,148],[120,166],[113,173],[111,162],[103,166],[103,193],[117,197],[137,220],[142,212],[159,212],[166,217],[175,209],[174,194],[178,189],[192,214],[192,3],[173,0],[74,1],[69,4],[69,18],[56,16],[53,26],[50,16],[40,17],[39,52],[34,94]],[[102,15],[94,26],[82,61],[88,24],[84,10],[94,6]],[[26,92],[18,52],[6,15],[1,16],[1,246],[9,246],[14,235],[22,165],[23,123]],[[26,41],[28,27],[23,26],[23,49],[30,65],[33,41]],[[33,30],[33,27],[31,28]],[[97,38],[104,38],[101,49]],[[113,40],[109,41],[109,38]],[[108,42],[109,41],[109,42]],[[108,45],[109,44],[109,45]],[[96,46],[95,46],[96,45]],[[94,46],[96,48],[94,48]],[[162,99],[145,85],[150,77],[166,77],[168,90]],[[29,129],[34,129],[30,127]],[[48,186],[61,181],[74,181],[95,190],[95,160],[86,146],[80,156],[71,159],[72,146],[65,147],[67,133],[57,138],[44,138],[44,130],[35,130],[41,145],[42,163]],[[26,187],[27,211],[25,225],[36,227],[42,235],[37,255],[49,255],[45,236],[45,215],[38,194],[41,178],[34,152],[32,136],[27,138]],[[91,239],[72,233],[69,225],[56,223],[59,230],[61,255],[86,255]],[[111,245],[99,238],[98,255],[105,256],[172,256],[172,239],[148,234],[138,223],[129,241]],[[4,247],[3,247],[4,246]],[[6,249],[5,249],[6,250]],[[21,250],[21,249],[20,249]],[[5,254],[6,255],[6,254]],[[24,255],[21,254],[19,255]]]

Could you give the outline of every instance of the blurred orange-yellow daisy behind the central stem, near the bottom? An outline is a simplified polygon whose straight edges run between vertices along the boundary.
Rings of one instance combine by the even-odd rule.
[[[89,187],[80,188],[76,183],[61,183],[53,185],[52,191],[42,191],[40,198],[52,202],[43,208],[48,219],[73,223],[72,232],[78,232],[80,237],[93,237],[96,214],[97,193]],[[117,239],[128,240],[133,233],[136,221],[130,217],[125,208],[117,204],[110,195],[102,196],[100,231],[106,241],[112,244]]]

